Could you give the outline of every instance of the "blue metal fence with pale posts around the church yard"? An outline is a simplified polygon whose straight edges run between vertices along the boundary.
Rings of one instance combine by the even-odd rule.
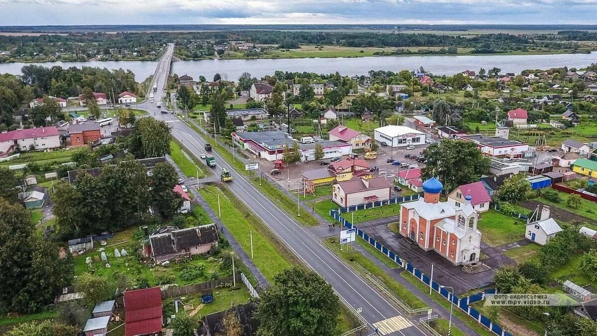
[[[416,200],[417,198],[418,198],[418,194],[413,195],[414,200]],[[390,204],[399,203],[398,202],[399,199],[402,200],[402,197],[390,198],[389,203]],[[410,197],[408,197],[408,196],[404,197],[404,201],[408,201],[408,200],[410,200]],[[394,201],[395,203],[392,203],[392,201]],[[374,203],[367,203],[367,204],[371,204],[371,207],[374,206]],[[349,209],[357,209],[357,210],[364,209],[365,206],[366,206],[366,204],[359,204],[358,206],[343,208],[344,211],[343,211],[343,209],[330,210],[330,215],[334,219],[339,221],[340,224],[342,224],[344,227],[349,228],[349,229],[356,228],[355,225],[353,225],[352,223],[350,223],[349,221],[344,219],[341,216],[341,213],[347,212]],[[380,251],[381,253],[388,256],[393,261],[395,261],[397,264],[402,266],[403,259],[401,259],[395,252],[386,248],[386,246],[381,245],[380,242],[377,242],[377,240],[368,236],[368,234],[365,233],[364,231],[362,231],[361,229],[359,229],[359,228],[356,228],[356,229],[357,229],[356,233],[358,234],[359,237],[362,237],[362,239],[364,239],[366,242],[368,242],[371,246],[374,246],[378,251]],[[405,263],[404,267],[407,269],[408,272],[410,272],[411,274],[416,276],[417,279],[426,283],[426,285],[429,285],[430,278],[426,274],[422,273],[420,270],[415,268],[409,261],[404,260],[404,263]],[[450,295],[450,292],[448,292],[448,290],[446,288],[442,288],[439,285],[439,283],[437,283],[435,281],[433,281],[431,283],[431,287],[436,292],[439,292],[439,294],[441,294],[442,297],[445,297],[448,301],[452,301],[452,303],[456,304],[458,306],[458,308],[463,310],[465,313],[469,314],[469,316],[473,317],[473,319],[479,320],[479,317],[481,317],[481,319],[480,319],[481,324],[484,325],[485,328],[490,329],[491,332],[494,332],[494,334],[499,335],[499,336],[512,336],[512,334],[510,334],[509,332],[503,331],[503,329],[499,325],[492,324],[491,320],[488,319],[488,317],[486,317],[482,314],[479,314],[479,311],[477,311],[475,308],[469,306],[469,304],[471,304],[473,302],[482,300],[482,298],[483,298],[482,293],[471,295],[468,298],[468,300],[466,300],[466,298],[464,298],[463,300],[460,300],[456,295]],[[484,292],[485,292],[485,294],[495,294],[495,293],[497,293],[497,289],[495,289],[495,288],[485,289]]]

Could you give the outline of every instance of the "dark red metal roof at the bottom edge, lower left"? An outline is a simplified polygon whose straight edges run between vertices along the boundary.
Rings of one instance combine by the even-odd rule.
[[[162,291],[159,287],[124,292],[125,336],[162,331]]]

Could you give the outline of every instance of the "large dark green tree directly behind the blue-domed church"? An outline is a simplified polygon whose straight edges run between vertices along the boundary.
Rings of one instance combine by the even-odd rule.
[[[473,142],[442,140],[423,151],[427,165],[421,170],[423,179],[436,176],[451,191],[461,184],[479,181],[489,167],[489,158],[483,156]]]

